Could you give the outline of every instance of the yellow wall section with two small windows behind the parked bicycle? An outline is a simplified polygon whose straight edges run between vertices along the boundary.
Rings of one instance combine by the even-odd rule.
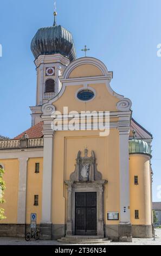
[[[40,163],[40,173],[35,173],[35,163]],[[37,224],[41,222],[42,210],[42,173],[43,158],[31,158],[28,160],[27,170],[27,211],[26,223],[30,223],[30,214],[37,214]],[[38,195],[38,206],[34,205],[34,195]]]

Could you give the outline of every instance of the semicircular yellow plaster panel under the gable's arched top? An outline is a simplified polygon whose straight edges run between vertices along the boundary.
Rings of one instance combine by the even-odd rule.
[[[89,76],[103,76],[103,74],[98,67],[91,64],[83,64],[76,67],[72,72],[70,72],[69,78]]]

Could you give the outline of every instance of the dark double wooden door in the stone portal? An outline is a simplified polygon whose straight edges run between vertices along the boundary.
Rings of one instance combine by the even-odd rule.
[[[96,192],[75,194],[75,235],[96,235]]]

